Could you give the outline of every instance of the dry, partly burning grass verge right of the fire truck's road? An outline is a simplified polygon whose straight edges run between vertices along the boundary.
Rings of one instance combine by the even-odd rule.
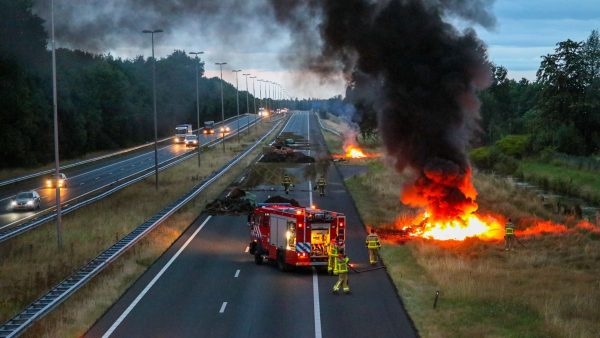
[[[422,214],[398,203],[404,179],[377,162],[347,185],[365,223],[393,232],[396,222],[410,223]],[[505,252],[500,238],[384,241],[382,257],[420,334],[595,337],[600,332],[598,228],[553,214],[534,193],[510,181],[476,173],[473,182],[478,213],[517,220],[526,247]],[[440,300],[434,310],[436,290]]]

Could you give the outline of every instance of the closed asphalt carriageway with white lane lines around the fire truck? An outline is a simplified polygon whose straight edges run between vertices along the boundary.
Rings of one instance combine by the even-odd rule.
[[[318,122],[295,113],[285,131],[303,134],[325,156]],[[304,164],[291,164],[303,205],[340,211],[347,217],[346,252],[367,266],[366,232],[342,177],[327,173],[327,195],[313,196]],[[256,186],[257,200],[283,195],[281,186]],[[274,188],[278,191],[265,192]],[[334,295],[337,277],[303,269],[281,272],[255,265],[246,253],[245,216],[201,215],[96,322],[86,337],[415,337],[413,325],[384,270],[350,274],[351,295]]]

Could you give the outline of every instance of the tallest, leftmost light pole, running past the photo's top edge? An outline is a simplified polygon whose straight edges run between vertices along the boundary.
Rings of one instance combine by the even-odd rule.
[[[54,111],[54,184],[56,185],[56,241],[58,248],[62,249],[62,224],[61,224],[61,205],[60,205],[60,187],[59,170],[60,158],[58,153],[58,98],[56,95],[56,47],[54,42],[54,0],[50,3],[50,26],[52,30],[52,109]]]

